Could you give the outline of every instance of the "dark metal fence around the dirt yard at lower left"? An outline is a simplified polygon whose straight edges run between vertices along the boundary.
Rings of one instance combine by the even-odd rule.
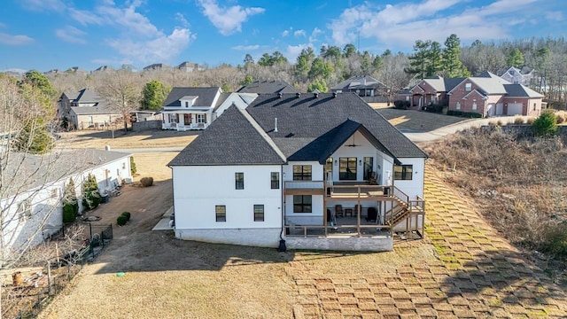
[[[92,261],[113,239],[113,226],[82,224],[81,234],[84,237],[76,239],[75,249],[59,253],[58,241],[68,240],[64,226],[56,234],[46,239],[46,245],[56,247],[55,257],[43,261],[40,266],[14,268],[12,284],[2,287],[2,318],[27,319],[35,318],[52,297],[66,289],[66,285],[77,275],[83,265]],[[77,237],[77,234],[74,233]],[[74,239],[75,240],[75,239]],[[51,254],[51,256],[53,255]],[[21,271],[19,271],[21,270]]]

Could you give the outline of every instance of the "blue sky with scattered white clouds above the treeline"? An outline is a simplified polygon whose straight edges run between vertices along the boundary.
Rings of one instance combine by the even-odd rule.
[[[183,61],[242,64],[281,51],[360,44],[411,52],[417,39],[463,44],[566,36],[557,0],[2,0],[0,70]]]

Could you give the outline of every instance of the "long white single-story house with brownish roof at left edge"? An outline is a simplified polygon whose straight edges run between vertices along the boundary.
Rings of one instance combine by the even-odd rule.
[[[82,207],[82,183],[89,174],[97,178],[101,194],[113,190],[122,180],[131,180],[131,154],[95,149],[55,151],[48,155],[12,153],[4,177],[0,200],[3,214],[2,240],[9,251],[19,252],[38,245],[63,226],[62,198],[66,184],[73,179]],[[23,163],[21,167],[14,166]],[[32,176],[33,181],[29,181]],[[4,178],[5,180],[5,178]]]

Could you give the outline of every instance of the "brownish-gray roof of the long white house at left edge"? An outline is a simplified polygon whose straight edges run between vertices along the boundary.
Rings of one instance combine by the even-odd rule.
[[[12,152],[8,162],[2,160],[5,180],[10,181],[3,185],[4,195],[31,191],[127,156],[130,154],[96,149],[56,150],[45,155]]]

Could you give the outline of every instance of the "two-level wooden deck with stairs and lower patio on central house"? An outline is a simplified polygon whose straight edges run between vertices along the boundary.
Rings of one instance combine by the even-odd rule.
[[[423,238],[425,201],[409,198],[393,185],[369,184],[367,181],[329,183],[324,181],[288,181],[284,195],[322,197],[322,212],[311,217],[285,218],[288,246],[296,249],[392,250],[394,235]],[[315,224],[313,218],[321,218]]]

